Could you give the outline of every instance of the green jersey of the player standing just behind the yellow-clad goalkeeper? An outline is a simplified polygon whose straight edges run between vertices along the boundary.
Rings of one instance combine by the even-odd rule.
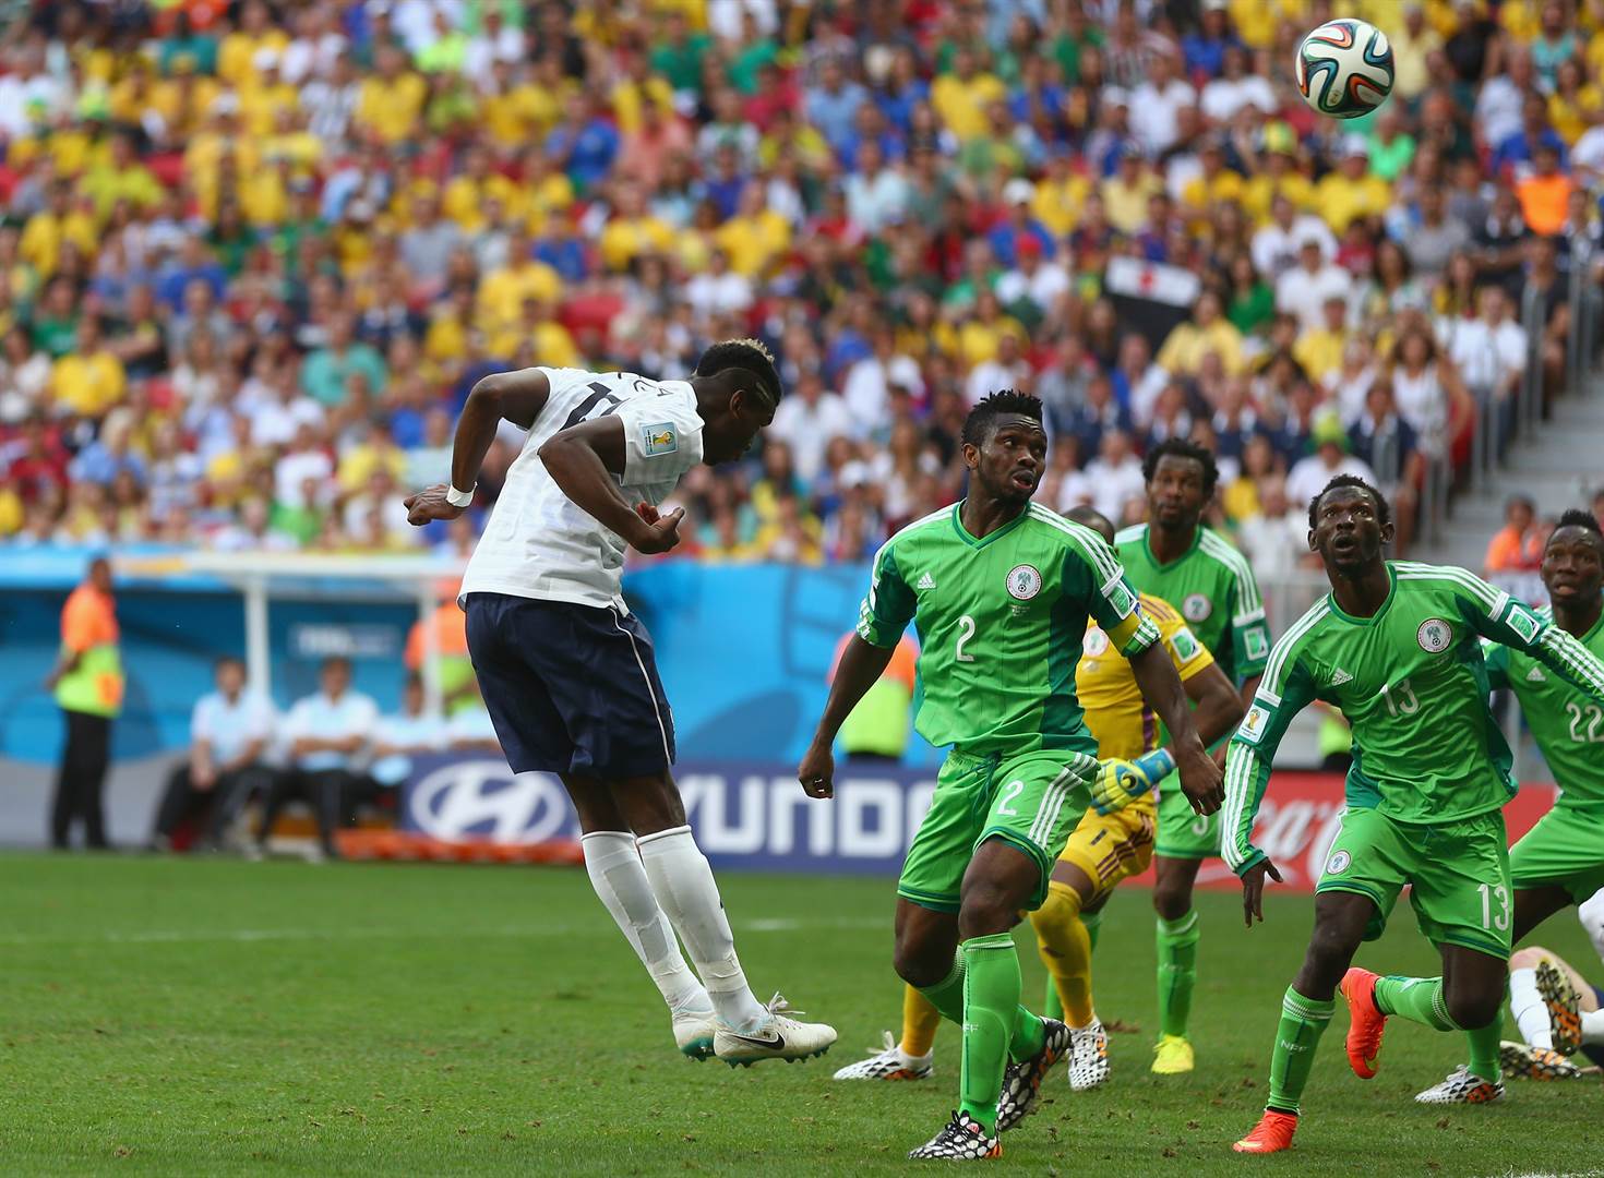
[[[1240,684],[1264,670],[1270,657],[1264,599],[1248,558],[1229,540],[1209,527],[1198,527],[1187,555],[1169,564],[1153,558],[1147,524],[1126,527],[1113,545],[1131,583],[1179,609],[1232,683]]]

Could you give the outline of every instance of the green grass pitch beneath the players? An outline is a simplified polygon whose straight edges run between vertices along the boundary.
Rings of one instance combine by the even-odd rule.
[[[566,869],[0,857],[0,1170],[6,1173],[431,1175],[906,1172],[956,1103],[951,1027],[926,1083],[832,1083],[893,1027],[889,880],[725,873],[760,997],[832,1021],[824,1059],[728,1069],[674,1051],[667,1018],[582,872]],[[1598,1172],[1596,1080],[1511,1083],[1490,1107],[1412,1095],[1456,1037],[1394,1019],[1381,1074],[1343,1058],[1338,1010],[1298,1148],[1229,1144],[1264,1099],[1280,994],[1307,898],[1245,933],[1201,901],[1198,1071],[1147,1074],[1153,920],[1120,894],[1097,957],[1113,1080],[1006,1138],[1001,1172],[1055,1175],[1508,1175]],[[1543,942],[1590,960],[1556,917]],[[1407,907],[1360,960],[1434,971]],[[1025,955],[1027,992],[1043,971]],[[1139,1027],[1139,1031],[1136,1031]]]

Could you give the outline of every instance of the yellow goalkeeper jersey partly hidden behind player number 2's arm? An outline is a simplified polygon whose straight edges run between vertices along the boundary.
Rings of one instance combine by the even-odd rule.
[[[1214,656],[1168,601],[1147,593],[1137,596],[1142,601],[1142,612],[1158,627],[1158,636],[1182,683],[1205,667],[1214,665]],[[1163,726],[1142,699],[1131,664],[1108,641],[1108,635],[1091,620],[1086,623],[1081,662],[1075,668],[1075,694],[1086,710],[1086,726],[1097,737],[1100,758],[1132,760],[1163,744]]]

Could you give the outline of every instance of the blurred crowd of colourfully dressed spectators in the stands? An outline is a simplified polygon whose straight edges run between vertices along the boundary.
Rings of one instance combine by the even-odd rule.
[[[1331,473],[1407,522],[1479,402],[1556,391],[1601,244],[1604,0],[5,6],[13,545],[462,553],[513,426],[472,516],[401,497],[481,375],[755,335],[788,397],[682,553],[863,559],[1015,386],[1044,502],[1139,518],[1189,434],[1274,575]],[[1333,14],[1395,54],[1360,120],[1291,83]]]

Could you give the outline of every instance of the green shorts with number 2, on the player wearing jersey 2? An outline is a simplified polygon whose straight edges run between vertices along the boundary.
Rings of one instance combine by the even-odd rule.
[[[1068,748],[1020,756],[946,755],[930,811],[913,837],[897,894],[937,912],[958,912],[975,849],[1001,838],[1036,861],[1041,881],[1027,904],[1047,898],[1052,864],[1091,805],[1097,758]]]

